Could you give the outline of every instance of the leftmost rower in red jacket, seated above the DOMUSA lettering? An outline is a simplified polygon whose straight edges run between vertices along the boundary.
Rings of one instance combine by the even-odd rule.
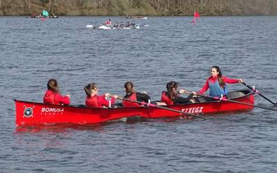
[[[68,105],[70,103],[70,95],[62,96],[60,94],[60,89],[57,84],[57,80],[50,79],[47,82],[47,91],[44,94],[45,104],[56,104],[56,105]]]

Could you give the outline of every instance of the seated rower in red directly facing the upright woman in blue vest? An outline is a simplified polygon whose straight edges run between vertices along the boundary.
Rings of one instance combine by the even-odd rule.
[[[181,93],[186,93],[186,90],[180,89],[177,90],[178,84],[175,81],[170,81],[166,84],[166,89],[168,91],[163,91],[161,93],[161,101],[165,102],[168,105],[173,104],[184,104],[184,103],[193,103],[198,102],[197,98],[193,98],[197,93],[193,91],[187,98],[180,96]]]

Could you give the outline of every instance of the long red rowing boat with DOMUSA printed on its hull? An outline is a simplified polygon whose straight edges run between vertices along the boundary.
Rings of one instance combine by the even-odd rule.
[[[253,92],[249,90],[232,91],[227,95],[230,101],[212,101],[190,104],[177,104],[165,106],[190,114],[217,113],[223,111],[241,111],[253,109]],[[248,104],[248,105],[247,105]],[[143,118],[162,118],[170,116],[183,116],[182,113],[161,109],[161,107],[107,107],[93,108],[84,106],[62,106],[43,104],[39,102],[26,102],[15,100],[16,125],[48,125],[48,124],[91,124],[117,120],[132,116]]]

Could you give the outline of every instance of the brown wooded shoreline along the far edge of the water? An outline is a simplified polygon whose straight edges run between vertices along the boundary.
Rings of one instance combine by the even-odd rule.
[[[256,16],[277,15],[276,0],[0,0],[0,16]]]

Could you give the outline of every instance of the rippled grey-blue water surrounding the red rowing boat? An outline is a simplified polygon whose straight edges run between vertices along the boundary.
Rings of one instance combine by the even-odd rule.
[[[277,172],[277,113],[255,108],[209,120],[119,120],[15,127],[13,99],[42,101],[56,78],[72,104],[83,86],[160,98],[170,80],[199,90],[213,65],[277,101],[276,17],[150,17],[139,30],[91,30],[107,17],[0,18],[0,172]],[[111,17],[112,21],[124,21]],[[245,89],[242,84],[229,89]],[[256,95],[256,104],[271,104]]]

